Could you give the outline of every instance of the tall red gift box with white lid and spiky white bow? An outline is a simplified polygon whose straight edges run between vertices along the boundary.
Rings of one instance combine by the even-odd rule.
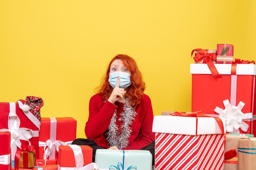
[[[211,116],[226,118],[227,133],[256,135],[256,121],[254,121],[256,65],[215,64],[215,66],[222,76],[217,80],[213,78],[206,64],[190,65],[191,111],[202,110]]]

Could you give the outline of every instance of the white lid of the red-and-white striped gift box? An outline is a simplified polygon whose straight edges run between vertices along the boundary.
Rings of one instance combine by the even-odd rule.
[[[226,127],[226,119],[220,118]],[[197,123],[196,123],[197,122]],[[217,121],[213,117],[154,116],[152,131],[182,135],[222,134]],[[226,133],[226,128],[224,128]]]

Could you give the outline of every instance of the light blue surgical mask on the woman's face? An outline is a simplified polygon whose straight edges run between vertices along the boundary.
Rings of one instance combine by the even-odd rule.
[[[115,88],[117,85],[117,76],[120,77],[120,83],[119,83],[120,88],[125,89],[131,84],[130,74],[125,72],[114,72],[114,73],[110,73],[108,78],[108,82],[113,88]]]

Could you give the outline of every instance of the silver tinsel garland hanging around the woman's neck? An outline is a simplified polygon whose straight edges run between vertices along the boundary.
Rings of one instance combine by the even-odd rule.
[[[117,146],[117,148],[122,149],[126,148],[129,144],[128,138],[131,134],[132,121],[135,120],[137,113],[135,109],[129,105],[130,100],[126,98],[124,102],[124,111],[120,114],[119,121],[121,121],[120,133],[117,133],[118,127],[116,124],[117,120],[117,110],[115,110],[110,125],[108,126],[107,141],[108,145]]]

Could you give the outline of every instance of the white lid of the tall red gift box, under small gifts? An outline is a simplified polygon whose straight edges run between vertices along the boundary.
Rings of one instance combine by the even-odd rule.
[[[219,74],[231,74],[232,64],[214,64]],[[190,74],[212,74],[207,64],[190,64]],[[255,64],[236,64],[236,75],[256,75]]]

